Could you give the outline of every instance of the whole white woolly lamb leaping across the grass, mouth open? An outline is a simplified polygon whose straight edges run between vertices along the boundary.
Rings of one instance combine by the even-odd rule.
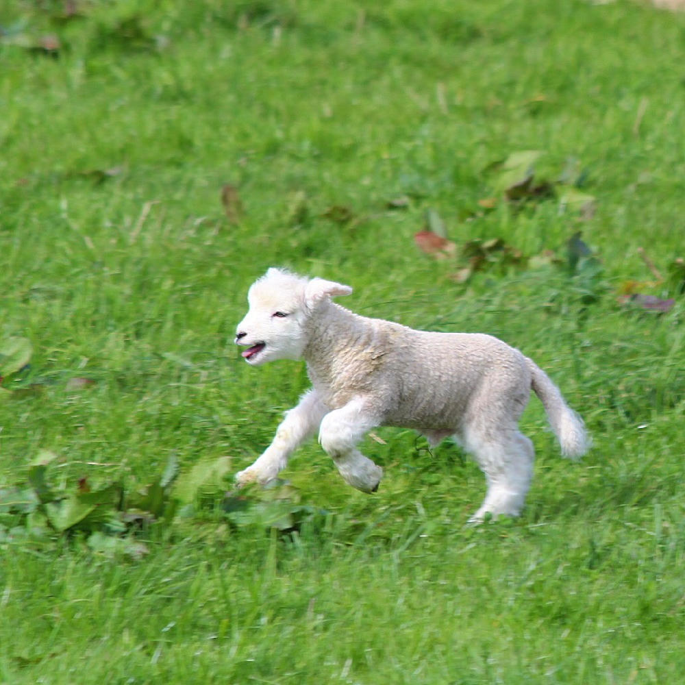
[[[471,453],[485,474],[486,497],[473,514],[516,516],[533,474],[534,449],[519,432],[531,388],[545,406],[562,454],[580,458],[590,439],[580,416],[532,360],[486,334],[417,331],[359,316],[332,297],[352,288],[269,269],[249,288],[249,311],[236,330],[242,357],[259,366],[305,360],[312,388],[286,412],[273,442],[238,486],[266,484],[301,443],[319,443],[345,482],[378,488],[380,466],[357,448],[374,427],[416,429],[435,446],[447,436]]]

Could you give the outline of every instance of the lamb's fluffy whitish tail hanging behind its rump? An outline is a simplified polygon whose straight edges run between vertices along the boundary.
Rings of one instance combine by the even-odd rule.
[[[569,405],[549,376],[532,360],[527,360],[532,375],[532,388],[547,412],[549,425],[556,434],[564,457],[579,459],[590,449],[592,440],[588,436],[583,420]]]

